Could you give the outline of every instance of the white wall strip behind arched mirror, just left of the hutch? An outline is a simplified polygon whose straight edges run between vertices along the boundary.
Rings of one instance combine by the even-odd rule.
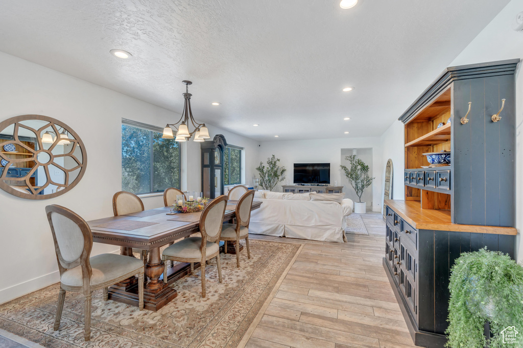
[[[392,160],[392,199],[405,199],[405,185],[403,184],[403,170],[405,168],[405,136],[403,123],[394,123],[385,130],[380,138],[381,159],[383,162],[382,175],[385,177],[385,163]],[[385,192],[385,183],[381,183],[381,194]]]

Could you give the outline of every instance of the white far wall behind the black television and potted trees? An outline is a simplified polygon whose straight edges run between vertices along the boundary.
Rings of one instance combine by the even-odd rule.
[[[380,211],[382,205],[382,167],[380,138],[343,138],[343,139],[311,139],[311,140],[283,140],[261,142],[259,148],[259,161],[266,163],[267,158],[272,154],[279,158],[280,165],[287,168],[286,179],[280,183],[275,190],[281,191],[280,185],[285,185],[286,181],[292,184],[292,170],[294,163],[331,163],[331,185],[337,181],[342,183],[342,170],[339,165],[342,159],[342,149],[372,148],[372,163],[367,163],[372,167],[376,176],[372,185],[372,210]],[[257,165],[256,165],[257,166]],[[353,190],[352,187],[344,187],[344,193]]]

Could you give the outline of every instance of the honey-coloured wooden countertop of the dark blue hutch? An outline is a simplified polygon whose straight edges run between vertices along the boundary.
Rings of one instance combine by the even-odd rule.
[[[385,205],[391,207],[401,218],[418,230],[457,231],[516,235],[514,227],[462,225],[450,222],[450,210],[422,209],[419,201],[390,199]]]

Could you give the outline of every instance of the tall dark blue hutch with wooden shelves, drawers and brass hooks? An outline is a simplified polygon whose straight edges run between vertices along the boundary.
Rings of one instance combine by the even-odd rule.
[[[447,341],[450,270],[461,253],[486,246],[514,257],[518,63],[447,68],[399,118],[405,200],[385,201],[383,267],[418,346]],[[429,166],[423,153],[440,151],[450,164]]]

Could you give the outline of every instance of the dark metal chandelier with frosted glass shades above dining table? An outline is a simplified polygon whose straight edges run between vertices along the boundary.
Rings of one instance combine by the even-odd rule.
[[[162,138],[164,139],[173,139],[175,138],[173,134],[173,128],[176,129],[176,138],[175,141],[187,141],[187,139],[190,139],[192,135],[195,136],[194,141],[201,142],[205,141],[204,139],[209,139],[209,129],[205,126],[204,123],[198,123],[195,121],[194,117],[192,117],[191,112],[191,97],[192,94],[189,93],[189,85],[192,85],[191,81],[181,81],[185,84],[185,93],[184,93],[184,111],[181,113],[181,117],[176,123],[168,123],[163,131]],[[183,119],[183,121],[181,121]],[[180,123],[181,121],[181,123]],[[192,124],[192,127],[194,127],[194,130],[189,132],[189,122]],[[176,125],[178,125],[178,128],[176,128]]]

